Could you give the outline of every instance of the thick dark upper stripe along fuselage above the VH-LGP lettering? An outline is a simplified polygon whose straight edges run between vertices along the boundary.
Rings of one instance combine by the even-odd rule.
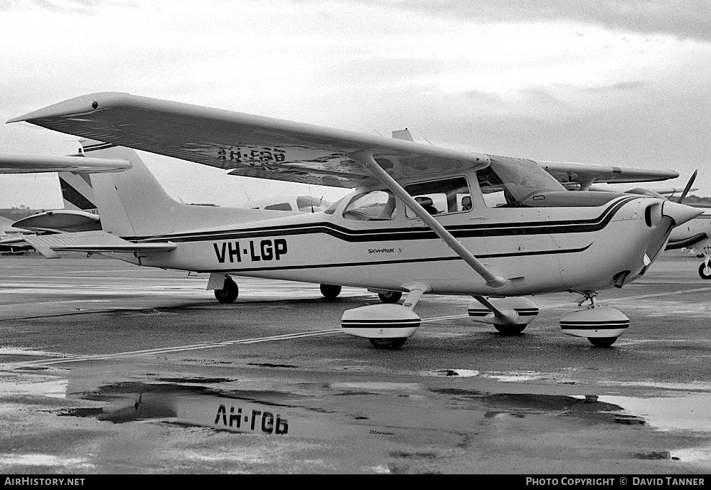
[[[481,225],[452,225],[447,226],[449,233],[456,238],[493,237],[510,235],[542,235],[560,233],[589,233],[602,230],[613,216],[626,203],[638,197],[622,198],[611,204],[597,218],[587,220],[555,220],[518,223],[493,223]],[[293,235],[310,235],[324,233],[346,242],[382,242],[393,240],[434,240],[439,239],[437,234],[429,228],[385,228],[383,230],[351,230],[333,223],[303,223],[298,225],[277,225],[260,228],[247,228],[243,230],[219,230],[204,233],[173,233],[155,237],[144,237],[140,241],[164,242],[170,240],[175,243],[242,240],[246,238],[267,238],[272,236],[288,237]]]

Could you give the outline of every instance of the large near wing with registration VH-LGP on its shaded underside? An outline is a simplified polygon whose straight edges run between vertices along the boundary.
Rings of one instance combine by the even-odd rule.
[[[407,139],[284,121],[180,102],[101,92],[10,119],[122,147],[193,161],[230,174],[355,188],[377,182],[347,155],[369,151],[389,174],[443,175],[482,168],[488,156]]]

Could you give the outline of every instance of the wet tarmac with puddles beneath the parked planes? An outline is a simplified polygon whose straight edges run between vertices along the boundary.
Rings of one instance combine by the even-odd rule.
[[[576,294],[502,336],[466,297],[427,296],[400,350],[344,335],[344,288],[101,258],[0,256],[5,474],[707,474],[711,282],[666,252],[599,293],[631,326],[566,336]]]

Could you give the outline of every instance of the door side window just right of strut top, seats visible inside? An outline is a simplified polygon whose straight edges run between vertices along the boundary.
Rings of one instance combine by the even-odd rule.
[[[459,213],[471,209],[471,193],[469,183],[464,177],[429,181],[405,186],[410,196],[430,214],[441,215]],[[407,208],[407,218],[415,218],[415,213]]]

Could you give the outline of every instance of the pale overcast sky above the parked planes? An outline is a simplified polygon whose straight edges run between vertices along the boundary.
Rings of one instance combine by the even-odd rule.
[[[2,122],[118,91],[530,159],[699,169],[711,196],[711,1],[4,0]],[[0,151],[76,138],[0,124]],[[185,202],[288,186],[141,154]],[[199,179],[196,178],[199,176]],[[649,184],[654,187],[655,184]],[[55,174],[0,176],[0,208],[63,206]]]

